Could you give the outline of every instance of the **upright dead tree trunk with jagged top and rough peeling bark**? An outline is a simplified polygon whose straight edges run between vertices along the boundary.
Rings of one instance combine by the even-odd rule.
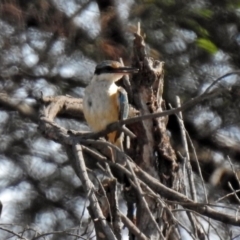
[[[132,65],[140,69],[131,80],[132,104],[139,110],[140,115],[165,110],[165,102],[162,98],[164,63],[147,57],[143,38],[139,34],[135,34]],[[132,140],[129,154],[145,172],[172,188],[178,165],[167,134],[167,121],[168,117],[161,117],[130,125],[129,128],[137,138]],[[145,200],[149,209],[143,204],[144,200],[141,196],[137,199],[137,226],[150,239],[161,239],[161,236],[165,236],[168,232],[171,219],[164,211],[163,214],[160,213],[162,209],[159,203],[147,196]]]

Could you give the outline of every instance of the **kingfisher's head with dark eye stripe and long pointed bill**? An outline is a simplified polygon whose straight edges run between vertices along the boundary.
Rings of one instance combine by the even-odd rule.
[[[137,73],[138,69],[133,67],[122,66],[117,61],[103,61],[96,66],[94,75],[97,80],[109,80],[112,82],[118,81],[125,74]]]

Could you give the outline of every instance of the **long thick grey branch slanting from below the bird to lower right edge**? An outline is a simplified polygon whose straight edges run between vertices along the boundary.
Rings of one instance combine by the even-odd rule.
[[[42,116],[40,117],[40,128],[42,130],[46,130],[44,128],[45,125],[47,125],[48,128],[50,128],[48,132],[54,132],[54,134],[52,134],[52,137],[51,135],[49,137],[51,137],[51,139],[59,143],[71,145],[73,141],[77,140],[77,138],[67,134],[66,129],[59,127],[54,122],[49,121],[46,117]],[[53,129],[56,128],[56,129],[51,131],[51,128]],[[81,142],[84,145],[94,145],[94,144],[103,143],[100,141],[93,141],[93,140],[82,140]],[[111,146],[110,143],[108,144],[109,146]],[[112,145],[112,147],[115,147],[115,146]],[[115,147],[115,149],[119,151],[118,148]],[[130,178],[132,177],[131,173],[124,166],[108,161],[106,157],[102,157],[102,158],[99,157],[98,160],[103,161],[104,163],[108,163],[109,165],[114,165],[118,168],[119,171],[121,171],[124,174],[127,174]],[[131,164],[134,164],[134,163],[131,163]],[[163,184],[161,184],[160,182],[156,181],[155,178],[153,178],[152,176],[150,176],[149,174],[141,170],[137,165],[134,165],[133,169],[136,172],[136,175],[138,176],[138,178],[141,179],[141,181],[145,182],[153,191],[159,193],[161,196],[169,200],[175,200],[175,201],[181,202],[181,204],[184,204],[187,208],[194,209],[198,213],[208,216],[210,218],[213,218],[215,220],[222,221],[235,226],[240,226],[240,219],[236,219],[235,216],[224,214],[210,208],[207,205],[193,202],[192,200],[188,199],[185,195],[180,194],[174,191],[173,189],[169,189]]]

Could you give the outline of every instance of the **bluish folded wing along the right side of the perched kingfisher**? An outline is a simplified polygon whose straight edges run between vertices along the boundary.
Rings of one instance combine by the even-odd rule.
[[[128,96],[124,88],[118,88],[118,106],[119,106],[119,120],[126,119],[128,117]]]

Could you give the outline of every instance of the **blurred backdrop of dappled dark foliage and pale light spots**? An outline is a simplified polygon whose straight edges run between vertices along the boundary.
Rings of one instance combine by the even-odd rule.
[[[238,0],[1,0],[0,227],[21,232],[28,226],[24,236],[29,239],[36,232],[76,226],[86,239],[94,236],[83,211],[81,182],[64,149],[38,132],[37,99],[41,92],[80,98],[98,62],[122,57],[131,64],[138,22],[147,54],[165,62],[167,106],[176,106],[177,95],[186,102],[216,78],[239,70]],[[228,181],[239,188],[227,158],[240,173],[240,77],[229,76],[215,88],[222,94],[184,112],[184,120],[206,185],[217,199],[230,191]],[[88,129],[83,119],[57,122]],[[174,116],[168,129],[181,151]],[[16,239],[11,236],[0,231],[0,239]],[[45,239],[76,238],[49,234]]]

